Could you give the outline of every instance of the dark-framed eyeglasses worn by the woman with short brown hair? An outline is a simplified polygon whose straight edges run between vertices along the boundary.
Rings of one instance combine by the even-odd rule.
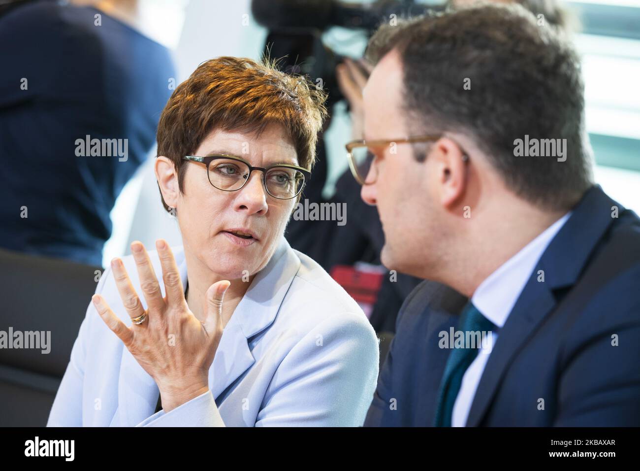
[[[307,169],[289,163],[278,163],[267,168],[252,167],[243,159],[227,154],[205,157],[188,155],[182,159],[204,163],[207,166],[209,183],[224,192],[239,190],[249,181],[253,170],[260,170],[262,186],[276,199],[291,199],[298,196],[305,186],[305,181],[311,175]]]

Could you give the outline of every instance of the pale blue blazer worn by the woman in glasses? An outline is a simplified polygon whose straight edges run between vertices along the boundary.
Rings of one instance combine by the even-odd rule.
[[[184,285],[184,251],[173,253]],[[161,276],[156,252],[149,256]],[[123,261],[146,309],[134,260]],[[96,292],[131,326],[111,270]],[[224,329],[208,392],[154,413],[154,379],[90,303],[47,426],[360,426],[378,358],[378,339],[358,304],[282,238]]]

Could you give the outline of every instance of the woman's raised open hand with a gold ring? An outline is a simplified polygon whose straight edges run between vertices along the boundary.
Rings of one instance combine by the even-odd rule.
[[[140,302],[122,260],[111,261],[113,277],[129,317],[143,319],[127,327],[99,294],[92,297],[96,310],[109,329],[122,340],[141,367],[156,381],[165,412],[209,390],[209,368],[222,336],[222,300],[230,282],[218,281],[207,290],[204,320],[189,310],[180,272],[164,240],[156,242],[166,296],[145,247],[131,244],[140,287],[148,309]],[[144,317],[143,317],[144,316]]]

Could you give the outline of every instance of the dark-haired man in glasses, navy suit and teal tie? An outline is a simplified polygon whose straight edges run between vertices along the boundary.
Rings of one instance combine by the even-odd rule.
[[[571,45],[487,4],[383,29],[368,54],[362,198],[385,266],[433,281],[403,304],[365,425],[640,425],[640,220],[593,184]]]

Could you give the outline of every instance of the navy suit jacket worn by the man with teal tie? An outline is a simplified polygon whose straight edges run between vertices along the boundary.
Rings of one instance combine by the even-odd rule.
[[[466,302],[431,281],[406,299],[365,426],[433,424],[451,352],[438,333]],[[640,220],[600,186],[573,208],[500,329],[467,426],[640,426]]]

